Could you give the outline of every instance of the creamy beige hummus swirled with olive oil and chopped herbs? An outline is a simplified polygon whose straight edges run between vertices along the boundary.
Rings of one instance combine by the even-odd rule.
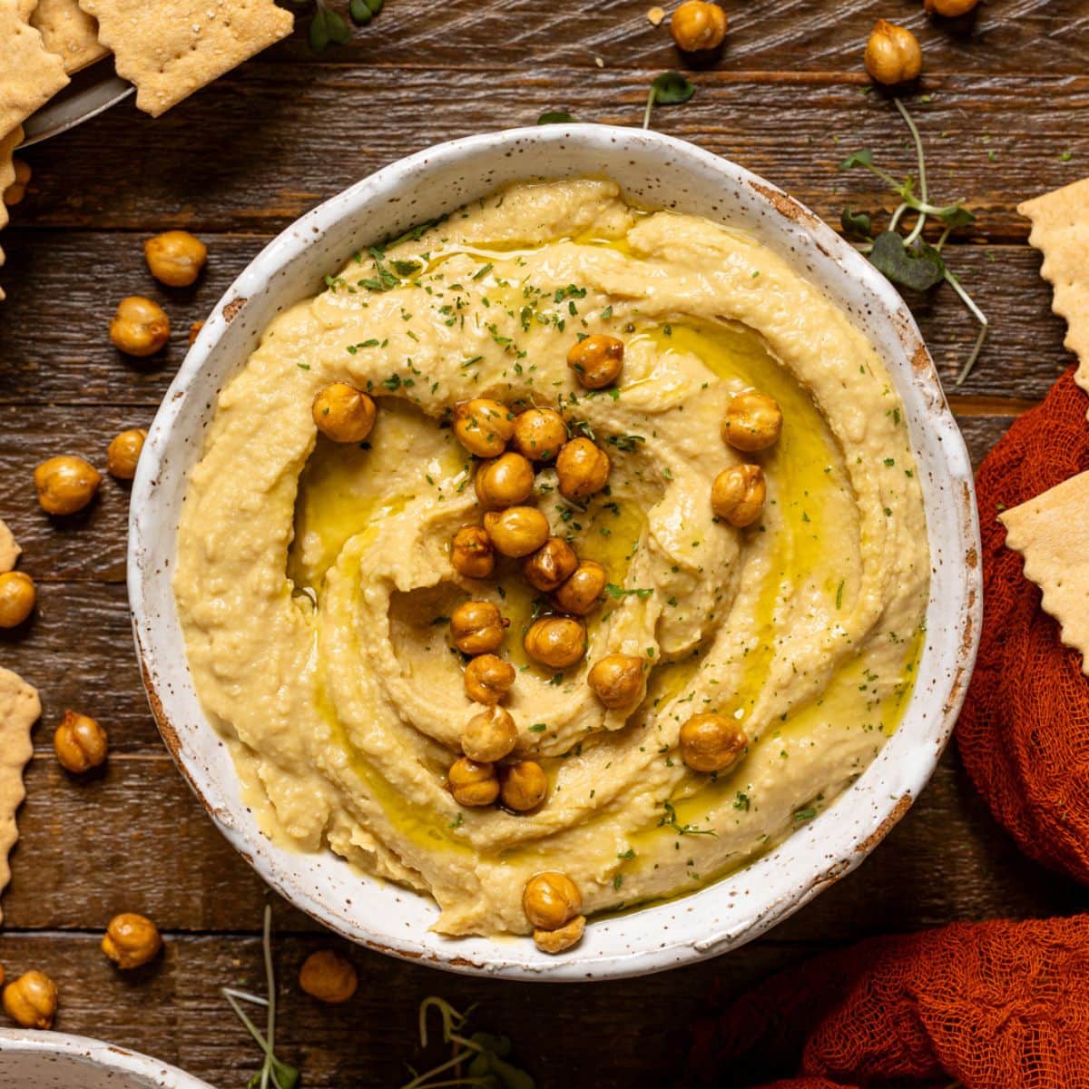
[[[542,870],[570,876],[587,915],[693,891],[857,779],[911,690],[929,555],[901,402],[818,289],[750,236],[635,209],[601,180],[507,188],[326,284],[220,394],[178,538],[196,688],[270,836],[429,894],[442,933],[527,933],[523,888]],[[614,389],[576,380],[579,333],[624,341]],[[318,435],[331,382],[376,399],[366,442]],[[742,455],[721,423],[754,388],[782,437]],[[451,565],[481,516],[451,412],[481,396],[558,407],[612,461],[585,507],[537,475],[552,533],[610,580],[563,672],[523,650],[540,602],[517,562],[481,580]],[[736,529],[709,495],[743,461],[768,493]],[[470,598],[511,621],[505,706],[549,781],[528,813],[446,787],[480,710],[448,623]],[[587,685],[612,651],[647,662],[629,713]],[[678,757],[697,712],[745,731],[725,773]]]

